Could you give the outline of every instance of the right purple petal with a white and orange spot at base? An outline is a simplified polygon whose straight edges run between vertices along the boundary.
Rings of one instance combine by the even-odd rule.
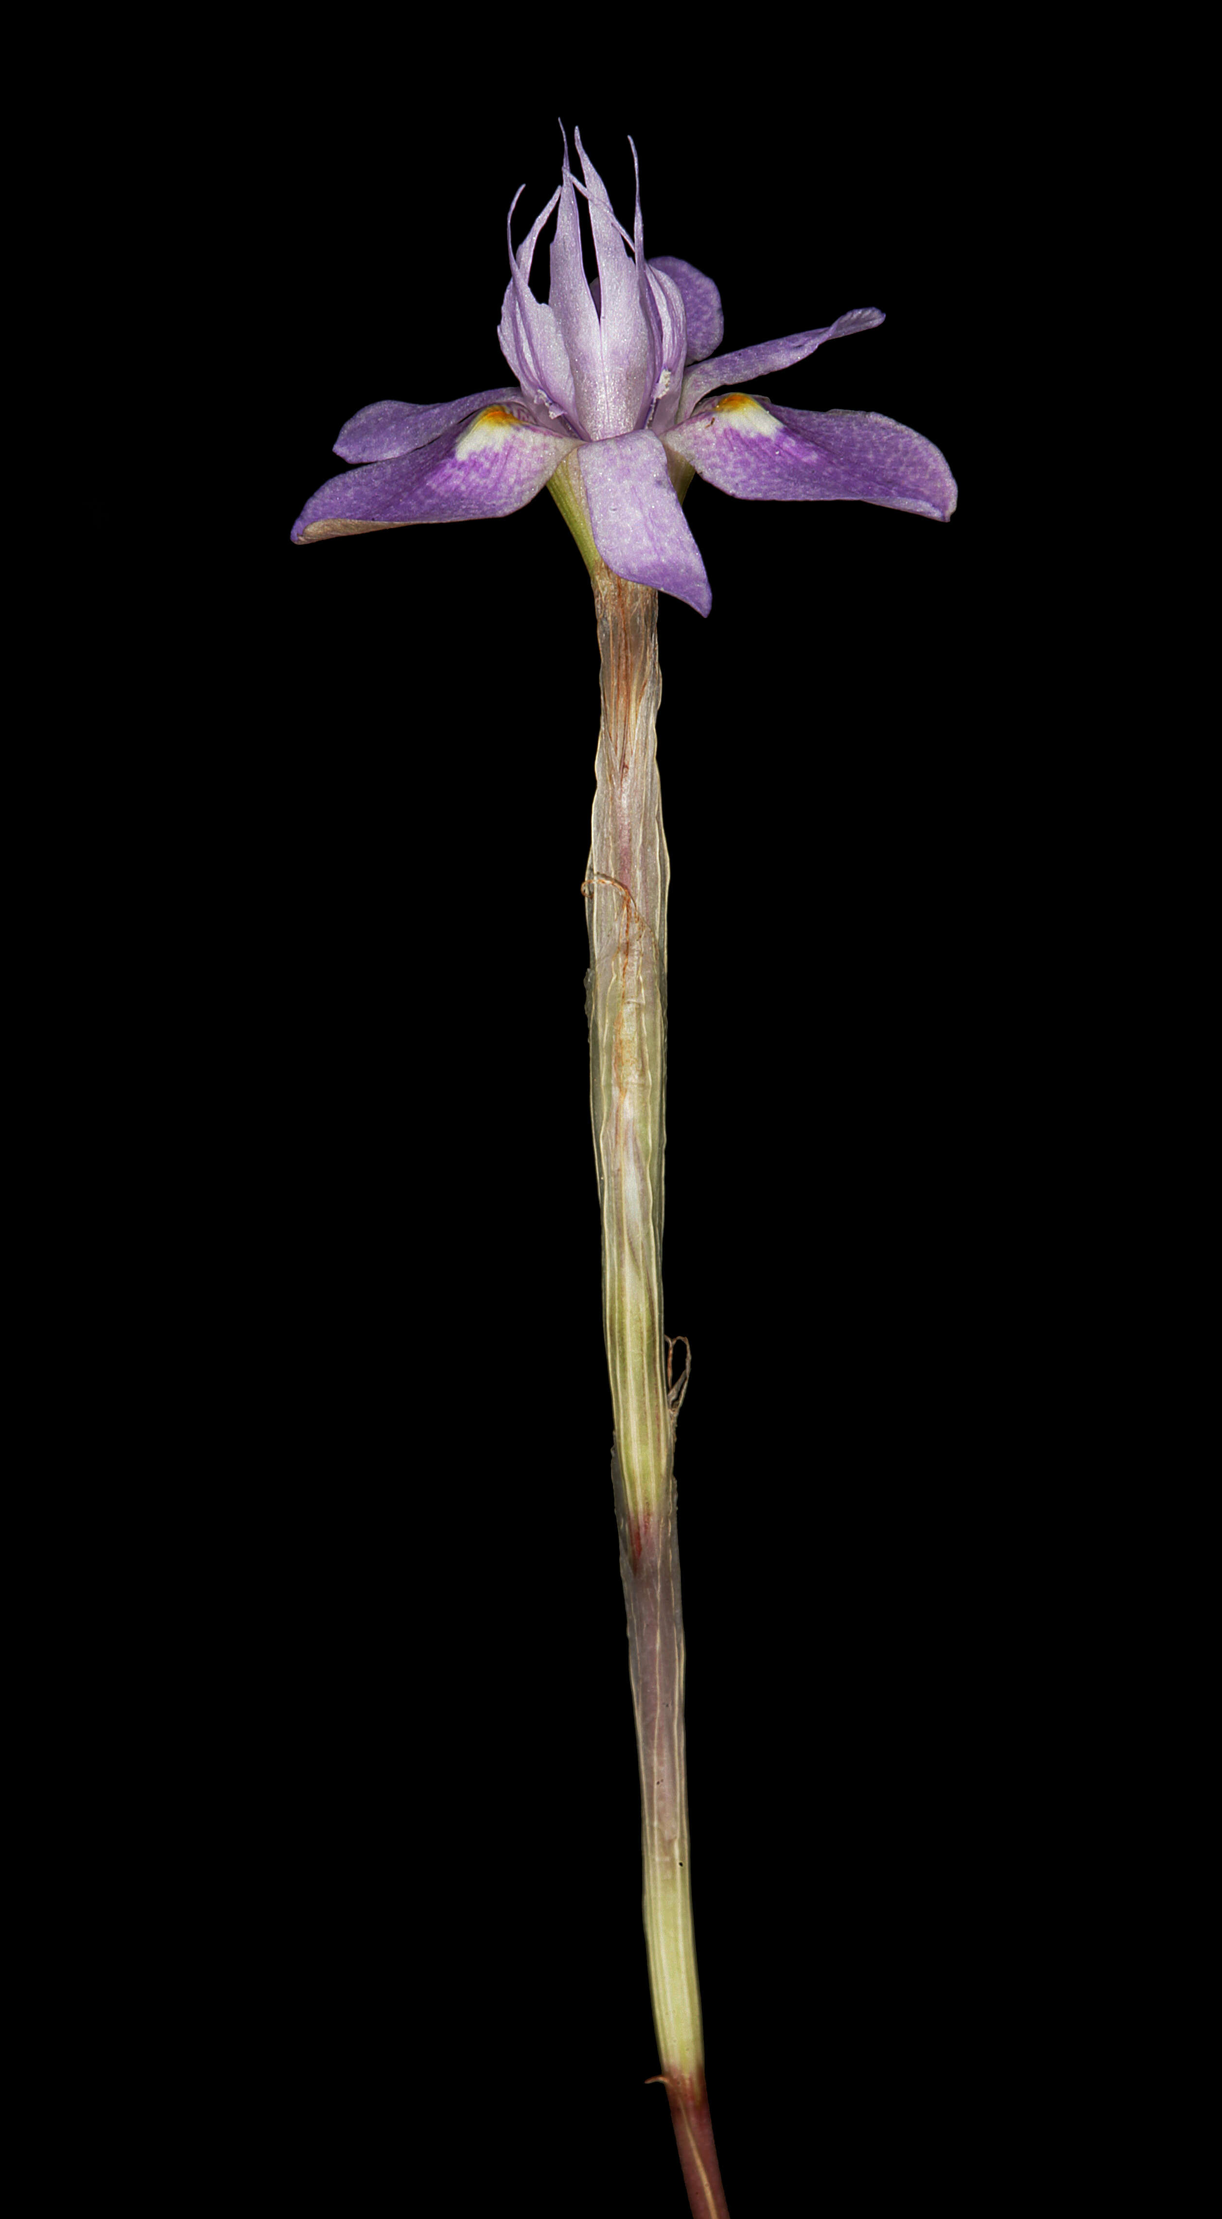
[[[665,433],[665,450],[741,501],[874,501],[945,524],[958,497],[929,439],[854,408],[816,415],[725,393]]]

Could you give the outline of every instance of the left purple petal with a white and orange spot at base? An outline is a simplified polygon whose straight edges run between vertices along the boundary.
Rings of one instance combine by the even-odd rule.
[[[523,424],[508,408],[483,408],[466,430],[413,455],[328,477],[306,501],[291,537],[297,546],[308,546],[313,539],[379,533],[395,524],[508,517],[543,490],[574,446],[577,439]]]

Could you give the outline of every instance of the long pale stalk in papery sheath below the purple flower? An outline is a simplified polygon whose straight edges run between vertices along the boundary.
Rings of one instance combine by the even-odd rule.
[[[603,719],[590,863],[590,1116],[603,1216],[612,1482],[641,1760],[650,1993],[679,2159],[696,2219],[727,2219],[712,2141],[692,1931],[674,1411],[661,1300],[665,894],[652,588],[590,561]]]

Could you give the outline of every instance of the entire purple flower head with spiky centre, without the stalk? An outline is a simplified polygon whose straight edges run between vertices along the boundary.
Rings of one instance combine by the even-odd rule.
[[[335,453],[361,468],[328,477],[306,501],[293,526],[297,544],[395,524],[506,517],[557,479],[552,490],[585,553],[592,541],[619,577],[672,592],[707,617],[712,592],[681,508],[692,473],[743,501],[874,501],[943,521],[951,515],[954,477],[920,433],[854,408],[816,415],[736,391],[747,377],[801,362],[825,340],[869,331],[883,322],[878,308],[852,308],[823,331],[714,355],[723,320],[712,277],[674,255],[645,262],[639,171],[628,237],[581,133],[577,153],[585,184],[570,173],[566,140],[561,184],[517,255],[506,224],[512,275],[497,337],[517,386],[435,406],[361,408],[335,442]],[[594,284],[581,266],[577,193],[590,206]],[[543,306],[530,291],[530,268],[557,202]]]

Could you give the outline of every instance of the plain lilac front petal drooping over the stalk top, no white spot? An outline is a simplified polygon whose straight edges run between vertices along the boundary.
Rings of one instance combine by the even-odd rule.
[[[608,570],[656,586],[707,617],[710,581],[670,484],[661,439],[634,430],[579,448],[594,546]]]

